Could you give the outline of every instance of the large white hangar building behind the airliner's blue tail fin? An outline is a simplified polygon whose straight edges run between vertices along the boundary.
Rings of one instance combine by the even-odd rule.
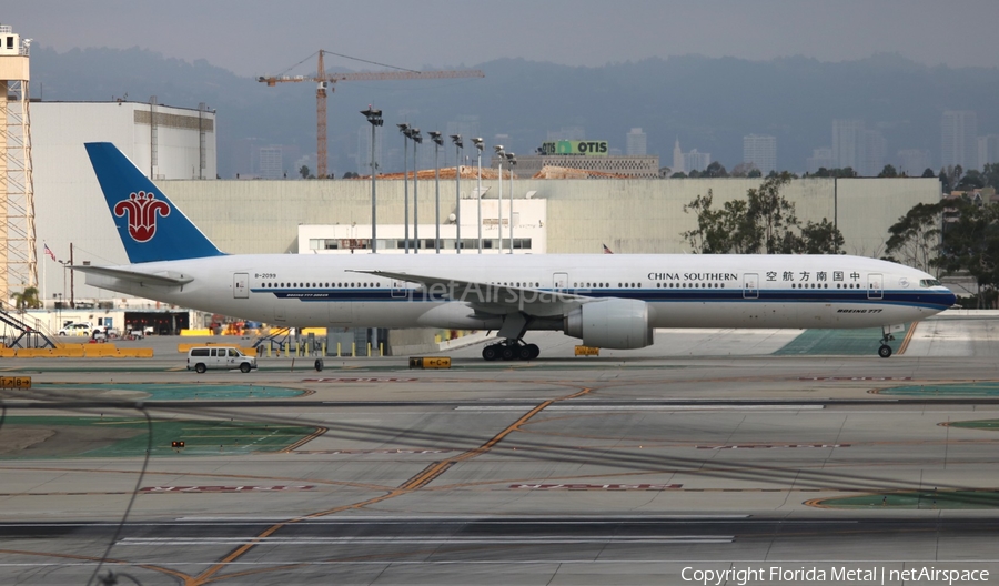
[[[113,142],[148,176],[212,180],[216,174],[215,114],[154,102],[31,102],[38,282],[43,297],[63,293],[58,261],[127,262],[114,223],[83,148]],[[110,297],[82,284],[75,297]],[[65,299],[69,300],[67,292]]]

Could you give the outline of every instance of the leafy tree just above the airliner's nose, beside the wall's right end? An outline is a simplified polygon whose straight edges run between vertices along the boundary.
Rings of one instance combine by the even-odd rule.
[[[888,260],[914,266],[939,276],[935,260],[940,247],[940,225],[946,201],[917,203],[894,223],[885,243]]]

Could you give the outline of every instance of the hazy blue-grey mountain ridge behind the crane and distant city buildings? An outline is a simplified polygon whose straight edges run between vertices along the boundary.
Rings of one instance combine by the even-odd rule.
[[[128,94],[132,101],[157,95],[159,103],[181,108],[208,103],[220,122],[222,176],[250,172],[241,166],[245,161],[232,156],[248,139],[314,153],[311,84],[268,88],[205,59],[188,62],[140,48],[59,53],[36,44],[31,50],[33,98],[93,101]],[[331,169],[337,176],[356,170],[357,134],[366,125],[357,111],[369,103],[385,112],[386,128],[406,121],[445,131],[461,114],[477,115],[487,143],[507,134],[508,150],[518,153],[533,152],[549,131],[565,127],[583,127],[587,139],[624,151],[628,130],[642,128],[649,154],[658,154],[665,166],[679,138],[685,151],[709,152],[730,169],[741,161],[741,137],[751,133],[777,137],[778,166],[803,171],[814,149],[831,144],[836,119],[860,119],[880,131],[886,162],[895,162],[896,151],[919,149],[931,153],[935,169],[944,110],[973,110],[979,135],[999,133],[991,98],[999,94],[999,68],[925,65],[898,53],[844,62],[688,54],[598,67],[504,58],[472,69],[486,77],[335,84],[329,98]],[[394,153],[401,144],[387,131],[384,140],[383,169],[393,171],[398,159],[401,170],[401,153]]]

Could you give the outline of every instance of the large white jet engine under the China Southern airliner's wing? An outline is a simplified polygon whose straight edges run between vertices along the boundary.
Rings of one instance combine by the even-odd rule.
[[[583,339],[593,347],[632,350],[653,343],[648,305],[644,301],[609,299],[594,301],[568,313],[563,320],[566,335]]]

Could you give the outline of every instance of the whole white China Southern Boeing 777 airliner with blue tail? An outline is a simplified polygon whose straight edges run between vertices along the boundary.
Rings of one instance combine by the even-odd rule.
[[[532,360],[531,331],[640,348],[657,327],[881,327],[955,295],[908,266],[847,255],[225,254],[113,144],[87,152],[131,264],[87,283],[287,326],[494,330],[485,360]]]

